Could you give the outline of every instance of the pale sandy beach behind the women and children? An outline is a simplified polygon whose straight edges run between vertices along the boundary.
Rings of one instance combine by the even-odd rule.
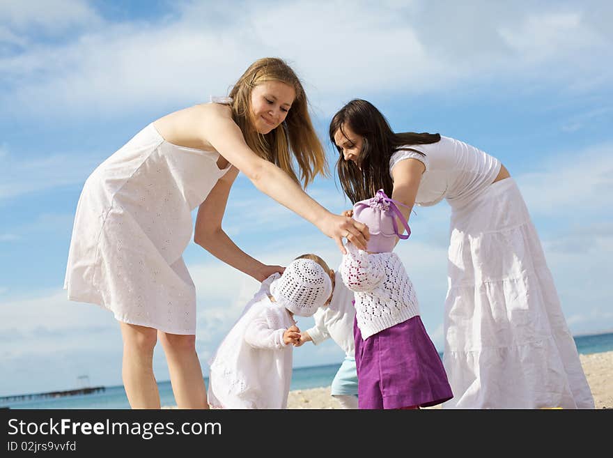
[[[596,409],[613,409],[613,351],[580,355]],[[341,409],[330,387],[290,391],[288,409]],[[429,409],[440,409],[440,406]]]

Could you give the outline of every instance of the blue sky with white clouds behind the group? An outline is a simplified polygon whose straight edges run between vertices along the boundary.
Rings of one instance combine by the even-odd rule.
[[[0,395],[75,388],[83,374],[121,383],[112,314],[62,289],[82,185],[145,125],[226,95],[262,56],[300,75],[331,166],[327,123],[356,97],[395,130],[440,132],[502,160],[571,331],[612,330],[613,6],[507,3],[0,0]],[[308,192],[330,211],[349,208],[334,177]],[[397,250],[442,351],[449,206],[415,211]],[[341,260],[333,241],[242,175],[224,228],[269,264],[304,252]],[[206,372],[257,284],[193,243],[185,261]],[[295,349],[295,367],[342,356],[333,342],[307,344]],[[168,379],[161,349],[154,367]]]

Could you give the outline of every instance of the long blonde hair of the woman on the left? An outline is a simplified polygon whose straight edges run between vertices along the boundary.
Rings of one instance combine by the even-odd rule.
[[[251,123],[251,91],[258,84],[268,81],[292,86],[296,98],[284,123],[262,135]],[[229,95],[232,98],[233,120],[249,148],[258,156],[279,166],[297,183],[302,182],[302,188],[307,188],[318,174],[329,176],[325,151],[309,116],[307,95],[300,79],[287,63],[276,57],[258,59],[242,74]],[[294,158],[300,178],[295,170]]]

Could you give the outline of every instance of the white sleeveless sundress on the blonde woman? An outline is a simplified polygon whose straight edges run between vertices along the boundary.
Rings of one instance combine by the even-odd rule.
[[[219,154],[166,142],[153,123],[98,166],[75,215],[64,289],[118,321],[195,334],[196,292],[183,251],[191,212],[231,168]]]

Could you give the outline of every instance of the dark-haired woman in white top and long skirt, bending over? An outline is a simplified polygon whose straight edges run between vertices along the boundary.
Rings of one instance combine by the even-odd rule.
[[[443,362],[453,398],[443,406],[593,409],[541,242],[504,165],[456,139],[393,132],[366,100],[336,113],[329,136],[352,203],[383,189],[407,219],[414,204],[451,206]]]

